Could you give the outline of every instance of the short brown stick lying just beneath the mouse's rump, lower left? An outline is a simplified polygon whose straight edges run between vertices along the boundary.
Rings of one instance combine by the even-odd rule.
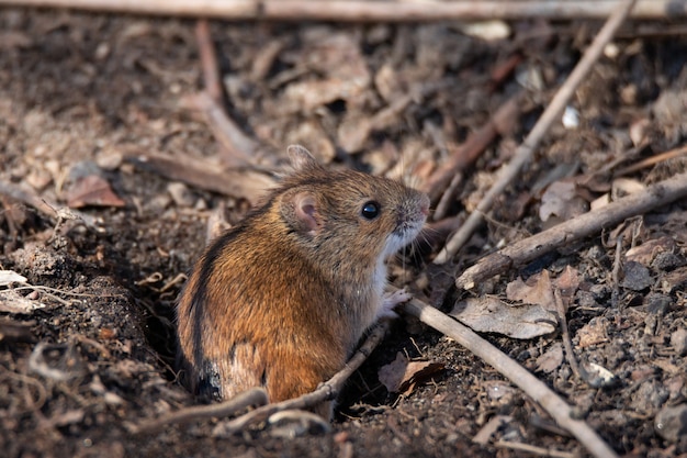
[[[267,403],[267,391],[262,388],[252,388],[243,393],[238,393],[228,401],[207,405],[192,405],[168,413],[158,418],[145,420],[138,424],[125,424],[125,427],[132,434],[153,434],[168,425],[230,416],[248,407],[264,405]]]

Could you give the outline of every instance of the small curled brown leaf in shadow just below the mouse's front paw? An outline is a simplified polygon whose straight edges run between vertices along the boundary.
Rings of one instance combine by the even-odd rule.
[[[408,395],[418,383],[431,379],[444,368],[441,362],[408,361],[401,351],[396,359],[380,368],[379,378],[391,393]]]

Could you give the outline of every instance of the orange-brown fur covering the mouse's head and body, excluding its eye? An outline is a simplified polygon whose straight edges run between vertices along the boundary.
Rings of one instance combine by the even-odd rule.
[[[296,172],[211,244],[180,297],[178,361],[195,393],[263,386],[281,401],[340,370],[383,312],[385,252],[399,248],[390,234],[409,224],[413,238],[425,221],[420,192],[290,153]],[[381,208],[371,221],[361,216],[369,201]]]

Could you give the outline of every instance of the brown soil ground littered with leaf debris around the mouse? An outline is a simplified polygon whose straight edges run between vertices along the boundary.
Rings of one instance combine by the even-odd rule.
[[[262,145],[262,170],[275,169],[285,146],[301,143],[330,167],[421,187],[520,93],[516,115],[498,125],[443,219],[432,223],[441,238],[474,209],[600,24],[502,25],[508,37],[493,41],[457,23],[214,22],[211,31],[226,109]],[[391,269],[396,283],[450,310],[471,294],[441,279],[574,217],[608,192],[684,171],[684,154],[623,171],[687,139],[687,40],[671,26],[624,26],[571,102],[578,123],[554,125],[489,224],[447,268],[428,266],[443,238],[406,256],[405,269]],[[215,437],[222,420],[213,420],[131,434],[129,424],[194,403],[171,368],[179,276],[201,253],[214,209],[235,223],[250,206],[250,197],[180,186],[129,160],[133,152],[228,168],[230,155],[192,97],[202,88],[194,21],[0,9],[0,179],[99,219],[93,226],[65,221],[55,231],[55,217],[0,193],[0,268],[32,286],[0,287],[3,456],[529,456],[499,440],[585,455],[494,369],[410,319],[393,326],[349,381],[330,431],[256,425]],[[572,191],[563,186],[571,182]],[[518,277],[577,272],[567,313],[575,354],[610,371],[611,382],[588,383],[566,361],[544,358],[560,351],[558,332],[484,335],[574,405],[620,455],[687,455],[686,226],[687,204],[676,202],[477,291],[506,298]],[[399,351],[444,370],[404,395],[390,393],[379,369]],[[656,418],[669,409],[682,412],[682,423],[677,415],[677,426],[657,431]],[[474,442],[493,418],[500,426]]]

